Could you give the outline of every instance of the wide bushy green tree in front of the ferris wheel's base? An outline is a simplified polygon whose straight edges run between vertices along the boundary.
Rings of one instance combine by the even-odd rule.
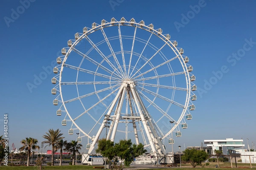
[[[114,144],[110,140],[101,139],[98,141],[97,153],[102,154],[102,156],[108,158],[113,162],[111,169],[116,169],[116,163],[120,159],[119,170],[123,168],[122,163],[125,166],[129,166],[134,158],[142,155],[146,152],[143,144],[132,144],[131,139],[120,140],[119,143]]]

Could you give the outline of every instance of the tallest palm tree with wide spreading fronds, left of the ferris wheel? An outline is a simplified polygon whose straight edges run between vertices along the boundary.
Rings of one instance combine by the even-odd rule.
[[[63,139],[64,137],[61,137],[63,133],[61,133],[61,130],[53,130],[49,129],[48,132],[46,132],[47,135],[43,135],[44,139],[47,139],[46,141],[43,141],[42,143],[47,143],[46,146],[52,146],[52,166],[54,166],[54,149],[55,145],[58,143],[59,140]]]

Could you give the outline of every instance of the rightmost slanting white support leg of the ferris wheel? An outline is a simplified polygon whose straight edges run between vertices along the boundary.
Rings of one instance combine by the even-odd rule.
[[[157,149],[157,150],[158,150],[158,153],[159,153],[159,154],[166,155],[166,151],[165,151],[165,149],[163,148],[163,144],[162,144],[162,142],[161,142],[161,140],[160,140],[160,138],[159,138],[159,136],[158,136],[158,134],[157,134],[157,131],[156,131],[155,128],[154,128],[153,123],[151,122],[151,117],[150,117],[150,115],[149,115],[147,109],[145,108],[145,106],[144,106],[142,100],[140,99],[140,96],[139,96],[138,92],[137,92],[136,90],[134,90],[134,92],[135,92],[135,94],[136,94],[136,96],[137,96],[137,99],[138,99],[139,102],[140,102],[140,105],[142,106],[143,113],[145,113],[146,116],[148,117],[148,119],[147,119],[147,122],[148,122],[148,124],[147,124],[147,125],[148,125],[148,129],[149,129],[149,132],[150,132],[150,135],[151,135],[152,139],[154,139],[155,142],[156,142],[157,145],[158,145],[158,149]]]

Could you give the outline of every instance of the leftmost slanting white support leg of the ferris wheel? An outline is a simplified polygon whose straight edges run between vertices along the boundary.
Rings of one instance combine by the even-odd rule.
[[[118,98],[119,98],[121,92],[123,91],[123,88],[124,88],[124,87],[123,87],[123,85],[122,85],[121,88],[119,89],[119,91],[118,91],[118,93],[117,93],[115,99],[113,100],[112,105],[111,105],[111,107],[109,108],[109,111],[108,111],[108,113],[107,113],[107,116],[108,116],[108,117],[110,116],[111,112],[113,111],[113,108],[114,108],[114,106],[116,105],[116,102],[117,102],[117,100],[118,100]],[[96,136],[95,136],[95,139],[93,140],[93,143],[91,144],[91,147],[90,147],[90,149],[89,149],[89,151],[88,151],[88,154],[90,154],[90,153],[93,151],[93,149],[94,149],[94,147],[95,147],[95,144],[98,142],[99,136],[100,136],[100,134],[102,133],[102,130],[103,130],[103,128],[104,128],[106,122],[107,122],[107,119],[104,119],[104,121],[102,122],[102,124],[101,124],[101,126],[100,126],[100,128],[99,128],[99,131],[97,132],[97,134],[96,134]],[[106,128],[107,128],[107,127],[106,127]]]

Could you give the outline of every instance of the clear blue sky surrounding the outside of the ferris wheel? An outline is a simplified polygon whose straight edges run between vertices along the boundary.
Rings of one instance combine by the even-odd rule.
[[[134,17],[162,28],[177,40],[194,67],[200,89],[196,110],[189,128],[175,138],[175,150],[184,144],[200,146],[204,139],[242,137],[246,146],[247,138],[250,146],[256,143],[255,1],[120,0],[111,6],[109,0],[34,0],[20,7],[21,2],[2,0],[0,6],[0,130],[3,114],[9,113],[9,146],[15,143],[19,148],[20,141],[30,136],[40,145],[49,128],[63,129],[50,93],[54,74],[47,74],[32,93],[27,83],[55,61],[76,32],[112,17]],[[198,3],[200,9],[193,11]]]

